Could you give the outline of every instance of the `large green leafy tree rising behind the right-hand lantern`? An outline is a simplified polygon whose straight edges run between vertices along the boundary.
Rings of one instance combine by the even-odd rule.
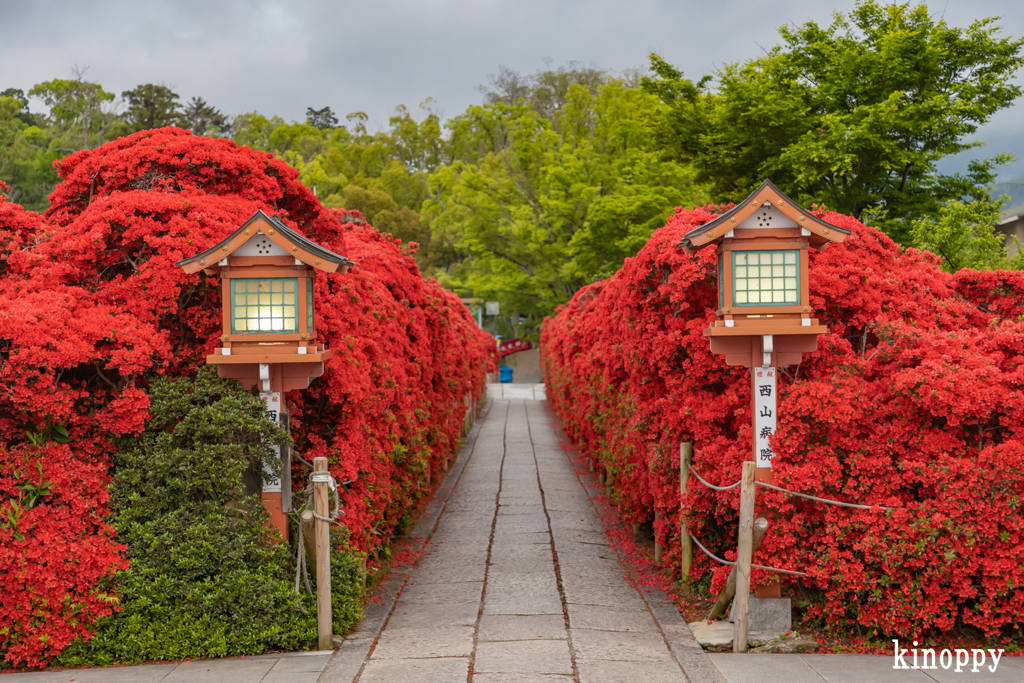
[[[998,156],[942,175],[940,160],[1009,106],[1024,41],[996,19],[948,26],[925,5],[859,2],[828,27],[779,29],[783,45],[696,83],[656,54],[643,87],[668,106],[651,117],[669,158],[691,163],[712,199],[738,201],[764,178],[804,204],[871,210],[909,244],[914,220],[946,202],[981,200]]]

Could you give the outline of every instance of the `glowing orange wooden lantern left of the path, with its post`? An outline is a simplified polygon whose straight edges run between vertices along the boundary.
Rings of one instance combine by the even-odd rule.
[[[313,276],[316,270],[345,272],[351,265],[344,256],[262,211],[223,242],[178,263],[187,273],[202,270],[221,279],[221,343],[206,357],[207,364],[217,366],[220,377],[237,379],[246,389],[257,385],[268,415],[286,429],[284,392],[308,387],[312,378],[324,374],[324,361],[331,357],[331,350],[317,338]],[[281,458],[281,479],[264,476],[262,484],[249,481],[247,488],[262,492],[271,521],[287,539],[290,454],[286,451]]]

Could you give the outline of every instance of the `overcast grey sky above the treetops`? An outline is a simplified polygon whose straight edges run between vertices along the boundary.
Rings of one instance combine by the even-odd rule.
[[[443,116],[480,101],[500,66],[523,74],[570,60],[621,71],[655,51],[689,78],[761,53],[777,27],[828,23],[852,0],[0,0],[0,90],[86,78],[120,93],[172,86],[229,115],[257,111],[304,120],[307,106],[384,127],[396,104],[433,97]],[[769,9],[770,7],[770,9]],[[1001,16],[1024,36],[1021,0],[937,0],[946,20]],[[1024,75],[1017,81],[1024,82]],[[38,110],[38,103],[35,103]],[[1024,175],[1024,105],[1001,112],[979,137],[982,156],[1013,152]],[[959,170],[966,161],[943,165]]]

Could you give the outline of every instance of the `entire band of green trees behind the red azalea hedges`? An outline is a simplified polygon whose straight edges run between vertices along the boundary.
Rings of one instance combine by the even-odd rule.
[[[501,331],[526,336],[614,272],[674,207],[736,201],[765,177],[943,254],[944,267],[1016,262],[989,225],[995,169],[1010,157],[952,175],[937,164],[981,144],[969,138],[1019,95],[1024,41],[1000,38],[996,19],[959,29],[923,5],[876,0],[780,34],[764,56],[696,82],[657,55],[647,78],[578,62],[502,68],[482,102],[447,122],[427,99],[376,131],[366,114],[339,121],[330,106],[302,121],[232,121],[154,84],[119,104],[79,74],[0,93],[0,180],[9,199],[44,210],[52,163],[70,151],[168,123],[229,135],[286,161],[325,206],[418,243],[423,272],[500,301]],[[29,111],[33,97],[44,113]],[[510,330],[516,321],[527,325]]]

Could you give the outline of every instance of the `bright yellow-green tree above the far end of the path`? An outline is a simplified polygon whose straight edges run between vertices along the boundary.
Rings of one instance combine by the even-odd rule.
[[[674,207],[702,199],[689,171],[650,144],[640,118],[659,106],[652,95],[622,80],[595,89],[585,80],[539,112],[529,92],[450,123],[453,147],[476,161],[435,170],[424,209],[433,240],[461,257],[441,282],[500,301],[524,323],[514,333],[527,337],[580,288],[621,267]]]

